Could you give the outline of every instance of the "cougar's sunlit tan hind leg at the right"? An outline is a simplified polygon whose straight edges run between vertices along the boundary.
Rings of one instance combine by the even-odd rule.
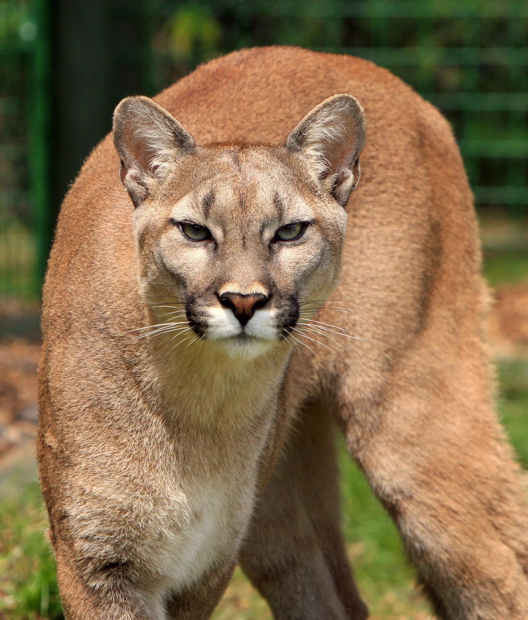
[[[349,450],[398,525],[439,618],[526,620],[527,515],[487,382],[476,363],[435,369],[426,359],[402,363],[370,402],[343,373]]]

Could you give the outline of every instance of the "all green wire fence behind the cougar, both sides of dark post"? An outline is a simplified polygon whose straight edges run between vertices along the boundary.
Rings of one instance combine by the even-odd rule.
[[[106,3],[114,23],[130,12],[121,0]],[[0,0],[0,296],[35,294],[49,239],[53,62],[45,4]],[[526,0],[150,0],[135,11],[142,43],[128,44],[127,57],[143,59],[146,94],[240,47],[280,43],[362,56],[449,118],[481,213],[528,217]],[[123,58],[105,71],[121,78]]]

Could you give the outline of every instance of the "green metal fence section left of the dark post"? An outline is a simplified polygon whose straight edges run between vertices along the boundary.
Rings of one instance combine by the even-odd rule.
[[[47,259],[51,88],[45,9],[37,1],[0,2],[0,297],[37,295]]]

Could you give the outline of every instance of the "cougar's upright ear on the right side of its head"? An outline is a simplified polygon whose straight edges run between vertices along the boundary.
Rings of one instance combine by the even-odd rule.
[[[286,146],[307,157],[316,176],[342,206],[359,181],[367,123],[356,97],[333,95],[295,127]]]

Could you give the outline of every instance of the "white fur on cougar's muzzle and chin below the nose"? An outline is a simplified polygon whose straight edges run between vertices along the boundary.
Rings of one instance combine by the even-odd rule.
[[[279,340],[274,310],[257,310],[243,328],[228,308],[208,308],[205,335],[231,356],[256,357]]]

